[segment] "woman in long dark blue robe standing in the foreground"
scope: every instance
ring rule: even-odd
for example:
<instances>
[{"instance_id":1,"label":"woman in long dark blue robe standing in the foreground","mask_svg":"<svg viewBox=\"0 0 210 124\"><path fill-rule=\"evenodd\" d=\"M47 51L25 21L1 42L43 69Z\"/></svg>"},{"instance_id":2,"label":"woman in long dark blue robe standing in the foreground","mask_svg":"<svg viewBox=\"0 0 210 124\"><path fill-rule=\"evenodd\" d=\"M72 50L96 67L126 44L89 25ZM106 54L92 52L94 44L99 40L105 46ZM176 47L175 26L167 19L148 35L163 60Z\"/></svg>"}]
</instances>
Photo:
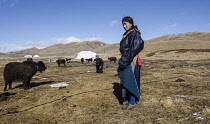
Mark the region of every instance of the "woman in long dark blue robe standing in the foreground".
<instances>
[{"instance_id":1,"label":"woman in long dark blue robe standing in the foreground","mask_svg":"<svg viewBox=\"0 0 210 124\"><path fill-rule=\"evenodd\" d=\"M137 26L134 26L131 17L124 17L122 25L126 32L120 42L121 58L118 63L118 76L123 85L123 104L126 105L122 109L132 109L136 107L136 102L140 100L141 61L138 54L144 48L144 41L141 38L141 32Z\"/></svg>"}]
</instances>

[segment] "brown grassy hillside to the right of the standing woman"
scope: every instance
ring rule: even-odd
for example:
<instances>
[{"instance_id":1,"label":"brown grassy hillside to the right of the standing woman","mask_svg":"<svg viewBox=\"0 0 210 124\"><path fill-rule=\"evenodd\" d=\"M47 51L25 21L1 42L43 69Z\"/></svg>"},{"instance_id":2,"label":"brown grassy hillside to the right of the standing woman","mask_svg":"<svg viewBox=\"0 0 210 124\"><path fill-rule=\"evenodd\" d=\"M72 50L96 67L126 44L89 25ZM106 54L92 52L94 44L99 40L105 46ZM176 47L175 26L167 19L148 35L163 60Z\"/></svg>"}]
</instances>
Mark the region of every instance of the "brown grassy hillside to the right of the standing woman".
<instances>
[{"instance_id":1,"label":"brown grassy hillside to the right of the standing woman","mask_svg":"<svg viewBox=\"0 0 210 124\"><path fill-rule=\"evenodd\" d=\"M145 43L145 49L141 54L148 59L189 60L197 58L196 56L208 59L210 54L209 46L209 32L190 32L179 35L166 35L149 40Z\"/></svg>"}]
</instances>

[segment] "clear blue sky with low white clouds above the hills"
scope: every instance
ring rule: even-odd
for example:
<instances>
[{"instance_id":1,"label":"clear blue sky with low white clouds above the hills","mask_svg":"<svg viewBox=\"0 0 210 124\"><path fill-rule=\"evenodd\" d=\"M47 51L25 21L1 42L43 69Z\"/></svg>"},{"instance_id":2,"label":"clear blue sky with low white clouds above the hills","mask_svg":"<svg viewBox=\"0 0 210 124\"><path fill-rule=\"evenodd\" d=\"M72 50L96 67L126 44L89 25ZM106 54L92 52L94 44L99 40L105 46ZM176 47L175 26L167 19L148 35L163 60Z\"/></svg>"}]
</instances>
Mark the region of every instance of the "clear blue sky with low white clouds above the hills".
<instances>
[{"instance_id":1,"label":"clear blue sky with low white clouds above the hills","mask_svg":"<svg viewBox=\"0 0 210 124\"><path fill-rule=\"evenodd\" d=\"M69 42L119 43L131 16L149 40L210 32L210 0L0 0L0 52Z\"/></svg>"}]
</instances>

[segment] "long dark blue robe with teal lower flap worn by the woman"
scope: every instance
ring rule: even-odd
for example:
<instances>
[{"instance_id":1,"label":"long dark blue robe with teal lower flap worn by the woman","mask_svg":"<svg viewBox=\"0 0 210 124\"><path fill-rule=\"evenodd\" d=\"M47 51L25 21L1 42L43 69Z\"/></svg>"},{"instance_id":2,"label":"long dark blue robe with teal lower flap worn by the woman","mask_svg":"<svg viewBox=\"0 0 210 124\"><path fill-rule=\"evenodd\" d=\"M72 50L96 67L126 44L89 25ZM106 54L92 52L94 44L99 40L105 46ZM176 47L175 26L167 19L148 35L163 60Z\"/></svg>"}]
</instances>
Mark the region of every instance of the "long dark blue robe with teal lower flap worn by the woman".
<instances>
[{"instance_id":1,"label":"long dark blue robe with teal lower flap worn by the woman","mask_svg":"<svg viewBox=\"0 0 210 124\"><path fill-rule=\"evenodd\" d=\"M121 58L119 60L118 76L123 87L130 91L139 101L140 100L140 67L134 65L132 69L131 62L134 57L144 48L144 41L141 38L141 32L137 27L132 27L126 31L120 42Z\"/></svg>"}]
</instances>

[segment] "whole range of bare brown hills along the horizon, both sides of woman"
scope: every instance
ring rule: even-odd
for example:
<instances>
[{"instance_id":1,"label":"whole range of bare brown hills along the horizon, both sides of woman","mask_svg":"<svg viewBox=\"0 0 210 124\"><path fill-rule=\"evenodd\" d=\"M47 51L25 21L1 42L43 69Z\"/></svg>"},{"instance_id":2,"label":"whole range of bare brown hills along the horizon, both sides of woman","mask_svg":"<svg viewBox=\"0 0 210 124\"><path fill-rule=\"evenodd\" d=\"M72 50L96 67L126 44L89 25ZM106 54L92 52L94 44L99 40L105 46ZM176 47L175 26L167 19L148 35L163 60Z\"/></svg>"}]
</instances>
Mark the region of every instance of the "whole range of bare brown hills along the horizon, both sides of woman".
<instances>
[{"instance_id":1,"label":"whole range of bare brown hills along the horizon, both sides of woman","mask_svg":"<svg viewBox=\"0 0 210 124\"><path fill-rule=\"evenodd\" d=\"M208 42L208 43L207 43ZM145 41L145 52L152 52L161 49L209 49L210 32L189 32L184 34L170 34ZM207 43L207 44L206 44ZM35 55L40 56L75 56L80 51L93 51L97 54L119 54L119 43L107 44L101 41L71 42L57 44L44 49L30 48L10 55ZM3 55L4 53L0 53Z\"/></svg>"}]
</instances>

